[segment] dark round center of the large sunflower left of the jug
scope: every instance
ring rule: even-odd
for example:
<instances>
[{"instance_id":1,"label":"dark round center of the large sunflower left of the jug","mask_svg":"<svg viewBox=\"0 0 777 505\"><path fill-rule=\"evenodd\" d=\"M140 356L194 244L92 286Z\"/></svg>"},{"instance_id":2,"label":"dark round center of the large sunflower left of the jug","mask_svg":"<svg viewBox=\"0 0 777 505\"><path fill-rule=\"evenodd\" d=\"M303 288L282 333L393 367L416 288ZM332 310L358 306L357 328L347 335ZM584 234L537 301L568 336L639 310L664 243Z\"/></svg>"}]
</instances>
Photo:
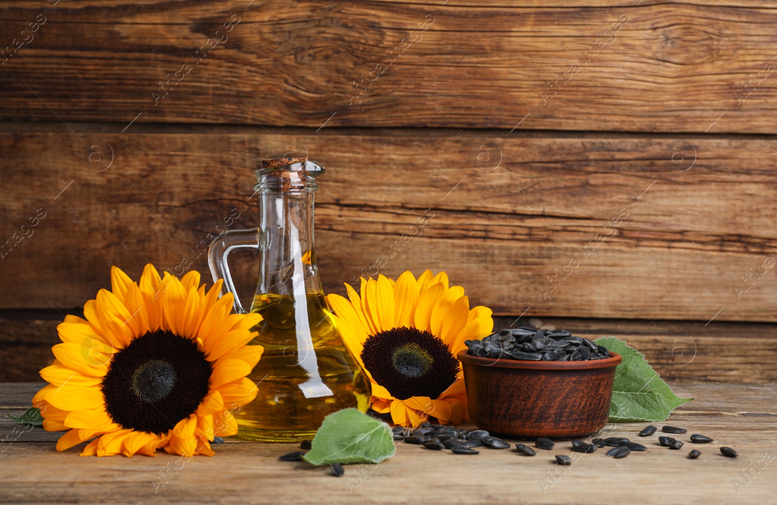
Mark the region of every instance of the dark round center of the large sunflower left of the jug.
<instances>
[{"instance_id":1,"label":"dark round center of the large sunflower left of the jug","mask_svg":"<svg viewBox=\"0 0 777 505\"><path fill-rule=\"evenodd\" d=\"M106 411L124 428L166 433L197 410L211 371L193 340L146 333L113 355L103 378Z\"/></svg>"}]
</instances>

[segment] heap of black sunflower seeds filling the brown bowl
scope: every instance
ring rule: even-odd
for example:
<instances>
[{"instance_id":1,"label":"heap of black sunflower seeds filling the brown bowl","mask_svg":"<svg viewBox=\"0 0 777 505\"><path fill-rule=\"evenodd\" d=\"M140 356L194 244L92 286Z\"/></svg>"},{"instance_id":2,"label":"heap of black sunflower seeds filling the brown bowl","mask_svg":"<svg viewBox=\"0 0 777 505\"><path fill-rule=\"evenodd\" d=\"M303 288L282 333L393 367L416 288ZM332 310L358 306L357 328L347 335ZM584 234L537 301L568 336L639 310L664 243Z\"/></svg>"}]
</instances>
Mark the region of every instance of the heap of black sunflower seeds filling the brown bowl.
<instances>
[{"instance_id":1,"label":"heap of black sunflower seeds filling the brown bowl","mask_svg":"<svg viewBox=\"0 0 777 505\"><path fill-rule=\"evenodd\" d=\"M610 357L598 346L565 329L536 329L529 326L501 329L483 340L465 340L467 354L479 357L527 361L586 361Z\"/></svg>"}]
</instances>

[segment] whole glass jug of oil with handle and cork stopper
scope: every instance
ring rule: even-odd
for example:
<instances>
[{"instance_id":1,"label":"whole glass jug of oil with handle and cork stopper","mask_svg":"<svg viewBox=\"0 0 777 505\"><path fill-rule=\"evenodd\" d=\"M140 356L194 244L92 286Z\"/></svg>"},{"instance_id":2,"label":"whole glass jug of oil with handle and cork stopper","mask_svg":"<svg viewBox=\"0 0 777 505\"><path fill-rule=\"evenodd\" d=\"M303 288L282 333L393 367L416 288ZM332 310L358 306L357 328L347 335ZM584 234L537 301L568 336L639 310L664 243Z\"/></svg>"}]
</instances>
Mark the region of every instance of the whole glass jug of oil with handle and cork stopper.
<instances>
[{"instance_id":1,"label":"whole glass jug of oil with handle and cork stopper","mask_svg":"<svg viewBox=\"0 0 777 505\"><path fill-rule=\"evenodd\" d=\"M369 379L347 350L329 317L313 249L315 178L324 172L307 158L262 162L255 186L260 226L230 230L208 250L214 281L224 279L235 296L235 312L245 313L235 293L228 254L236 248L260 249L259 280L249 308L263 316L251 343L264 347L249 378L256 399L235 419L237 437L252 441L312 439L329 413L349 407L364 412ZM228 408L229 406L227 406Z\"/></svg>"}]
</instances>

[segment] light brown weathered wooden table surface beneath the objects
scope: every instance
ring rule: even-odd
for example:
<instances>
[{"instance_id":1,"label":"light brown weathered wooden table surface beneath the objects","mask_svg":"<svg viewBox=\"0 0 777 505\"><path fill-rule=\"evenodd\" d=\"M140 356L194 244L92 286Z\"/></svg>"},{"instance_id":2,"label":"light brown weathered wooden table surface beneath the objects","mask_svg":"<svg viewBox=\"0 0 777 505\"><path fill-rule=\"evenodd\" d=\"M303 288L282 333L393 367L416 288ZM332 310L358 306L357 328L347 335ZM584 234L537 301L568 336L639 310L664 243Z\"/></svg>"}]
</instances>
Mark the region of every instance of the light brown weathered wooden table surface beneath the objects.
<instances>
[{"instance_id":1,"label":"light brown weathered wooden table surface beneath the objects","mask_svg":"<svg viewBox=\"0 0 777 505\"><path fill-rule=\"evenodd\" d=\"M277 461L278 455L296 448L290 444L228 440L214 446L213 458L190 461L164 452L156 458L80 458L78 448L57 453L58 434L36 427L17 437L5 416L22 413L40 385L0 385L0 503L731 505L775 503L777 495L777 391L769 384L671 384L678 395L695 400L655 424L686 427L688 435L715 439L691 444L688 435L678 436L686 441L680 451L660 447L658 434L639 438L647 451L617 460L604 450L573 453L568 442L557 443L552 451L538 449L533 458L512 449L457 456L398 443L394 458L380 465L347 465L340 478L327 468ZM645 425L614 424L603 432L637 439ZM719 451L723 445L735 448L739 457L724 458ZM692 449L702 451L699 459L686 457ZM573 465L556 465L557 454L570 455Z\"/></svg>"}]
</instances>

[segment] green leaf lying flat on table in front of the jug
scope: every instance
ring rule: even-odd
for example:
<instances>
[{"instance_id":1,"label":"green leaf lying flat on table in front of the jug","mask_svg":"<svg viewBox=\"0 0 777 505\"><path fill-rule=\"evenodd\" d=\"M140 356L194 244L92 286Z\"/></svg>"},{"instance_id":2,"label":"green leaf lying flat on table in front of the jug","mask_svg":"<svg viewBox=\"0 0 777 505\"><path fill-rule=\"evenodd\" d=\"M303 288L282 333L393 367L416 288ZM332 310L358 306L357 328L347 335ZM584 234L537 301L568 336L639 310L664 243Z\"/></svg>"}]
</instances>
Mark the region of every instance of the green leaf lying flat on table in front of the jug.
<instances>
[{"instance_id":1,"label":"green leaf lying flat on table in front of the jug","mask_svg":"<svg viewBox=\"0 0 777 505\"><path fill-rule=\"evenodd\" d=\"M344 409L324 418L305 461L313 465L380 463L395 452L388 424L357 409Z\"/></svg>"}]
</instances>

